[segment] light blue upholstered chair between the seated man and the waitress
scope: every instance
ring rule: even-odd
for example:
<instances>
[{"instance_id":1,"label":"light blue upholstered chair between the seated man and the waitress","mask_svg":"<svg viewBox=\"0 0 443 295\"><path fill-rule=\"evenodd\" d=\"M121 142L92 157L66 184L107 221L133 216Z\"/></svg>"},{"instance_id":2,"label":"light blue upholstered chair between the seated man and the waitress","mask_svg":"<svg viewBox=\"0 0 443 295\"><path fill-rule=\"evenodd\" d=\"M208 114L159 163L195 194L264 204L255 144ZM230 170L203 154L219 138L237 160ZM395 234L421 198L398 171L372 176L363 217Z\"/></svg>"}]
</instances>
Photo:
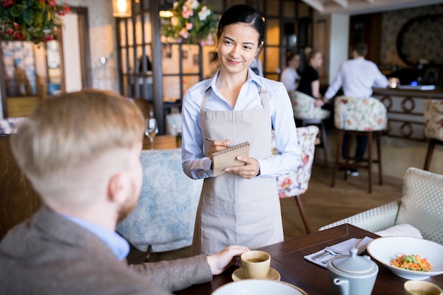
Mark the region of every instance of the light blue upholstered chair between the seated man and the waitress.
<instances>
[{"instance_id":1,"label":"light blue upholstered chair between the seated man and the waitress","mask_svg":"<svg viewBox=\"0 0 443 295\"><path fill-rule=\"evenodd\" d=\"M135 248L164 252L192 244L203 180L183 173L181 149L142 151L143 184L134 211L117 232Z\"/></svg>"}]
</instances>

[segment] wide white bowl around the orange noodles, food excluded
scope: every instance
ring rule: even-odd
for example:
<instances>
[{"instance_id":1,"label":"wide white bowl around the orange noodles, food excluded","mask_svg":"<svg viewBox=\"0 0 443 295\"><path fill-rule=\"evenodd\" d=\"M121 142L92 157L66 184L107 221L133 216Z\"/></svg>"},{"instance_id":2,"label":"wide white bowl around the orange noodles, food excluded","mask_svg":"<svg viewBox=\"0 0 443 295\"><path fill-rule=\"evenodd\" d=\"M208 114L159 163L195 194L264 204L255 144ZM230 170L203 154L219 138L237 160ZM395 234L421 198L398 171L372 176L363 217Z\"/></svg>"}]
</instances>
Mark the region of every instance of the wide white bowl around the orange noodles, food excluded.
<instances>
[{"instance_id":1,"label":"wide white bowl around the orange noodles, food excluded","mask_svg":"<svg viewBox=\"0 0 443 295\"><path fill-rule=\"evenodd\" d=\"M404 279L427 279L435 275L443 274L443 245L404 236L386 236L376 238L367 245L367 252L375 260L388 267L398 277ZM390 265L391 260L397 254L420 255L432 264L432 272L417 272L415 270L403 270Z\"/></svg>"}]
</instances>

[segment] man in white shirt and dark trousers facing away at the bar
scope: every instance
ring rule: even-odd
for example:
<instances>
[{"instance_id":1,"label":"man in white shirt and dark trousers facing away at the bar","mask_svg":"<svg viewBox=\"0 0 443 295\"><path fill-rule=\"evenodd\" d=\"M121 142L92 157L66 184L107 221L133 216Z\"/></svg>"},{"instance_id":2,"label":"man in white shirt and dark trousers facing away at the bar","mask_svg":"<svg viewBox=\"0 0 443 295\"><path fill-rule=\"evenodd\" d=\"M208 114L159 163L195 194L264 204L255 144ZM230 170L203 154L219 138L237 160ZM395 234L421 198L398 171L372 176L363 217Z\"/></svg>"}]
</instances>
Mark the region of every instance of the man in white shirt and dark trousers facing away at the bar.
<instances>
[{"instance_id":1,"label":"man in white shirt and dark trousers facing away at the bar","mask_svg":"<svg viewBox=\"0 0 443 295\"><path fill-rule=\"evenodd\" d=\"M335 96L340 88L343 88L345 96L357 98L369 98L372 96L372 87L386 88L388 80L384 74L381 74L379 68L364 57L367 54L367 46L364 43L357 43L352 47L352 59L341 64L333 83L330 84L328 90L323 96L323 101L317 105L322 105L326 101ZM343 138L342 157L347 154L347 141L349 137L345 135ZM367 137L357 136L357 149L355 150L355 158L363 158L366 151ZM348 174L357 176L357 169L347 171Z\"/></svg>"}]
</instances>

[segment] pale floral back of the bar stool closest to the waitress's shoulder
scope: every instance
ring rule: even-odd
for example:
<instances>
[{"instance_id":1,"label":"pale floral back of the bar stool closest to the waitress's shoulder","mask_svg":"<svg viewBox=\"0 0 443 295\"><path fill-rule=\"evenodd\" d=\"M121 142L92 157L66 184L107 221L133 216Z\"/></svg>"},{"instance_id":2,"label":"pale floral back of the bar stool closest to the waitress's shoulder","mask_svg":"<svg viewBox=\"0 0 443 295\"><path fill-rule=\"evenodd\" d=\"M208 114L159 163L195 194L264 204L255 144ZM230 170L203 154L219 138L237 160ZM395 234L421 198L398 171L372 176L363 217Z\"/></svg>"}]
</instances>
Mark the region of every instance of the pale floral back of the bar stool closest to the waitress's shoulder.
<instances>
[{"instance_id":1,"label":"pale floral back of the bar stool closest to the waitress's shoulder","mask_svg":"<svg viewBox=\"0 0 443 295\"><path fill-rule=\"evenodd\" d=\"M330 116L328 110L316 108L313 104L316 99L300 91L288 91L294 109L294 117L297 119L320 119L324 120Z\"/></svg>"}]
</instances>

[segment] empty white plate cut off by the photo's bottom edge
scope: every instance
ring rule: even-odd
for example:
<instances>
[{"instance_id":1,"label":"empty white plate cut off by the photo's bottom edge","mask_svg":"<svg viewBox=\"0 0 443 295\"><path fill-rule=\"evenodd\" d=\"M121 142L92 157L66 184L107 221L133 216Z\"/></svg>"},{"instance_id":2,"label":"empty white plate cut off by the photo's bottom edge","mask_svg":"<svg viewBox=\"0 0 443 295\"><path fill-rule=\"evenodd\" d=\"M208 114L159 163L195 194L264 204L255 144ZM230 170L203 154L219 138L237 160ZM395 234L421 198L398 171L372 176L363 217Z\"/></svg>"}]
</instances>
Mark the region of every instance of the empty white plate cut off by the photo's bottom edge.
<instances>
[{"instance_id":1,"label":"empty white plate cut off by the photo's bottom edge","mask_svg":"<svg viewBox=\"0 0 443 295\"><path fill-rule=\"evenodd\" d=\"M292 284L268 281L265 279L243 279L219 287L212 295L306 295L306 293Z\"/></svg>"}]
</instances>

